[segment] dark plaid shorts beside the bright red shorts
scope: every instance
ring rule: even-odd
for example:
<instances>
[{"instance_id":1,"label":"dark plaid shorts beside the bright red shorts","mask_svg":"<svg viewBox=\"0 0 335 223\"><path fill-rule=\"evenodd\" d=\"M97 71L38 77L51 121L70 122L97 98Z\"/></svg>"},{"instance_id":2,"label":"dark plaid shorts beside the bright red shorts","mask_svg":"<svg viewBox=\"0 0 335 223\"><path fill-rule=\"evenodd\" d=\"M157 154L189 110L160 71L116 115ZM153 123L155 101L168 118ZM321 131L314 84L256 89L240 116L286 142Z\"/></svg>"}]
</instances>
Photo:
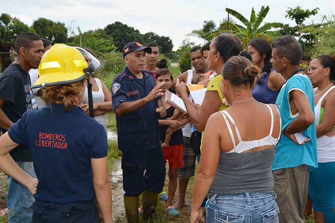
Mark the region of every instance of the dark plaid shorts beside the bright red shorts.
<instances>
[{"instance_id":1,"label":"dark plaid shorts beside the bright red shorts","mask_svg":"<svg viewBox=\"0 0 335 223\"><path fill-rule=\"evenodd\" d=\"M196 169L196 158L197 155L193 152L191 148L190 140L191 138L183 136L184 139L184 151L183 151L183 167L178 169L178 179L186 180L194 176Z\"/></svg>"}]
</instances>

